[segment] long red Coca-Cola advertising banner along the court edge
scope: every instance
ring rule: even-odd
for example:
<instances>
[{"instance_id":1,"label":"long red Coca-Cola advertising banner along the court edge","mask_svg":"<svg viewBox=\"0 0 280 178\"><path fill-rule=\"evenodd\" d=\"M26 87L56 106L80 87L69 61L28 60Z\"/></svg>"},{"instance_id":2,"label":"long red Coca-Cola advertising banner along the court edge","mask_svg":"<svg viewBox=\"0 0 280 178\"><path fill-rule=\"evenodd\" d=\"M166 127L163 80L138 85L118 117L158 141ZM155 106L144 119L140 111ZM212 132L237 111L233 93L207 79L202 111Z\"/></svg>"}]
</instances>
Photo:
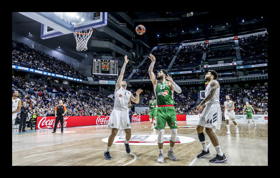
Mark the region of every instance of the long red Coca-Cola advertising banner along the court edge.
<instances>
[{"instance_id":1,"label":"long red Coca-Cola advertising banner along the court edge","mask_svg":"<svg viewBox=\"0 0 280 178\"><path fill-rule=\"evenodd\" d=\"M177 121L185 121L186 115L176 115ZM64 116L63 127L92 126L107 124L110 116ZM149 121L149 115L133 115L132 122ZM36 129L54 128L55 116L37 117ZM58 122L57 128L61 124Z\"/></svg>"}]
</instances>

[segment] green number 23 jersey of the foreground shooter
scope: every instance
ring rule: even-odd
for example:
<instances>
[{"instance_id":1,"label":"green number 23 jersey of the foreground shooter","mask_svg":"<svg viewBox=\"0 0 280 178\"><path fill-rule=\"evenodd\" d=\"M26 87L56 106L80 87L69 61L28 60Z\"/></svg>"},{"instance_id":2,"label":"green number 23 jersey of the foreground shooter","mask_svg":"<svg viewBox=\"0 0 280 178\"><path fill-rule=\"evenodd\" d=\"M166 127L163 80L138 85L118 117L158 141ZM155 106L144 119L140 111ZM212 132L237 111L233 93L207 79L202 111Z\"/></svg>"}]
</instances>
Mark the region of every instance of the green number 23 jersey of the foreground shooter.
<instances>
[{"instance_id":1,"label":"green number 23 jersey of the foreground shooter","mask_svg":"<svg viewBox=\"0 0 280 178\"><path fill-rule=\"evenodd\" d=\"M171 88L169 81L164 83L157 82L155 95L157 105L171 105L174 104L175 101L173 99L174 90Z\"/></svg>"}]
</instances>

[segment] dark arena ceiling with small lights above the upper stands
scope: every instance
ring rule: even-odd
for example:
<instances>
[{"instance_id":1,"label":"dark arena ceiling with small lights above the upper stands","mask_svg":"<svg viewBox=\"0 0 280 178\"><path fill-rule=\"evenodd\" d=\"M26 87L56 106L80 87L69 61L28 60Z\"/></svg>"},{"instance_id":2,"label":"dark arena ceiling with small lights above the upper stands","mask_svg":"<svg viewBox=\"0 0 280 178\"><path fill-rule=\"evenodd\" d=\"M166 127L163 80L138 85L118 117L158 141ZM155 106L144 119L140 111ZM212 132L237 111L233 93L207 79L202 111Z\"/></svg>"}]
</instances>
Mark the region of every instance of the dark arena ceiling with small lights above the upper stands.
<instances>
[{"instance_id":1,"label":"dark arena ceiling with small lights above the upper stands","mask_svg":"<svg viewBox=\"0 0 280 178\"><path fill-rule=\"evenodd\" d=\"M109 13L119 19L120 22L124 21L117 13ZM135 33L134 39L141 39L149 46L154 46L159 43L180 43L184 40L207 39L226 34L235 35L245 31L268 28L268 13L265 11L244 11L236 13L234 11L193 12L192 15L190 15L191 12L125 13L131 18L131 22L134 23L134 26L131 23L126 23L127 27ZM139 24L146 27L144 35L138 35L135 32L135 28ZM23 16L18 12L12 12L12 32L30 38L51 49L54 49L54 46L57 45L75 49L76 40L73 34L43 40L40 39L40 30L41 24L39 22ZM96 38L101 35L103 35L102 38L107 38L104 36L104 33L95 33ZM112 37L108 35L108 39L110 38ZM99 52L106 53L106 50L102 51L104 50L102 48L90 48L89 50L98 50Z\"/></svg>"}]
</instances>

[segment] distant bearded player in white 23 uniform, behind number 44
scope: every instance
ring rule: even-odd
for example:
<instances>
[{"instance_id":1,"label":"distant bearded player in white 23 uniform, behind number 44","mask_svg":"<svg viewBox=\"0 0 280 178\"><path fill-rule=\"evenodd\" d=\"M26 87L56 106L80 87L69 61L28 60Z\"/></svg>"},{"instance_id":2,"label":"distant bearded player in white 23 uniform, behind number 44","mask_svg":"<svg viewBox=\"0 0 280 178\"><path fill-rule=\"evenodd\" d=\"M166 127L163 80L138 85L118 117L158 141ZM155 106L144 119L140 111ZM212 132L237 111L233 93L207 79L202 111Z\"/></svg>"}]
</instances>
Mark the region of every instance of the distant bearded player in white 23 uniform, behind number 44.
<instances>
[{"instance_id":1,"label":"distant bearded player in white 23 uniform, behind number 44","mask_svg":"<svg viewBox=\"0 0 280 178\"><path fill-rule=\"evenodd\" d=\"M224 102L224 117L226 119L226 134L231 134L229 121L231 120L235 126L236 133L239 133L239 129L237 127L237 123L235 121L235 112L234 112L234 103L230 100L231 96L229 94L226 95L226 101Z\"/></svg>"}]
</instances>

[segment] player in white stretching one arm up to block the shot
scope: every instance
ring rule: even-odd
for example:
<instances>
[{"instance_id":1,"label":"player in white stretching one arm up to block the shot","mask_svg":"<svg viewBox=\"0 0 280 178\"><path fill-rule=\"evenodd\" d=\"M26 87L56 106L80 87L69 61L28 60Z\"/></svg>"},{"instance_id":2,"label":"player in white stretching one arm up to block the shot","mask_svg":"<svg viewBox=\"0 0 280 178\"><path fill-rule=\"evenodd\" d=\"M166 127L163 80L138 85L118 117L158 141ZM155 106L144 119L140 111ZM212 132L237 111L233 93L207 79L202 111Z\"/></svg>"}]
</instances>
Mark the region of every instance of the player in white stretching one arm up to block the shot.
<instances>
[{"instance_id":1,"label":"player in white stretching one arm up to block the shot","mask_svg":"<svg viewBox=\"0 0 280 178\"><path fill-rule=\"evenodd\" d=\"M128 63L127 56L124 57L124 65L122 67L122 70L119 74L119 78L116 83L116 89L115 89L115 98L114 98L114 108L113 111L111 112L108 124L107 124L107 129L111 129L111 135L109 136L108 139L108 144L107 144L107 149L104 153L104 158L111 160L112 157L110 156L110 148L113 144L114 138L118 132L118 130L124 130L125 131L125 150L127 153L130 153L130 147L128 144L128 141L131 137L131 125L130 125L130 119L129 119L129 114L128 114L128 103L129 100L133 101L134 103L139 103L140 97L139 94L143 91L142 89L138 89L136 91L136 98L126 90L127 83L126 81L122 81L124 78L124 71L125 71L125 66Z\"/></svg>"}]
</instances>

